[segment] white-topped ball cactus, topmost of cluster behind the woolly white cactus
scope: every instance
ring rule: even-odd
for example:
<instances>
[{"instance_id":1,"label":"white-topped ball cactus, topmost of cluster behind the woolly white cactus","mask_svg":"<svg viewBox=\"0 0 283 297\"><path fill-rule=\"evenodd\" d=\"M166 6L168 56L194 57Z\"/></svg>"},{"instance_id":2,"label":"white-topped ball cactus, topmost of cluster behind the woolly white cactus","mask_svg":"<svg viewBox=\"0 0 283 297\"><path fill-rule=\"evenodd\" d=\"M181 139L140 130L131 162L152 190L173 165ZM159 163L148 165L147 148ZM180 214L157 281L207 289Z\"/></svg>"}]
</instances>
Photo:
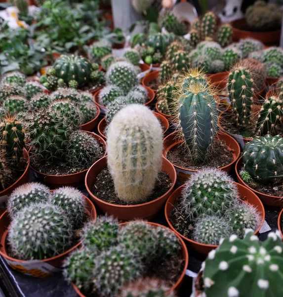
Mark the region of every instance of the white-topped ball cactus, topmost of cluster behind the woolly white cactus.
<instances>
[{"instance_id":1,"label":"white-topped ball cactus, topmost of cluster behind the woolly white cactus","mask_svg":"<svg viewBox=\"0 0 283 297\"><path fill-rule=\"evenodd\" d=\"M107 70L106 81L108 85L119 87L126 95L138 83L137 72L129 62L116 62Z\"/></svg>"}]
</instances>

